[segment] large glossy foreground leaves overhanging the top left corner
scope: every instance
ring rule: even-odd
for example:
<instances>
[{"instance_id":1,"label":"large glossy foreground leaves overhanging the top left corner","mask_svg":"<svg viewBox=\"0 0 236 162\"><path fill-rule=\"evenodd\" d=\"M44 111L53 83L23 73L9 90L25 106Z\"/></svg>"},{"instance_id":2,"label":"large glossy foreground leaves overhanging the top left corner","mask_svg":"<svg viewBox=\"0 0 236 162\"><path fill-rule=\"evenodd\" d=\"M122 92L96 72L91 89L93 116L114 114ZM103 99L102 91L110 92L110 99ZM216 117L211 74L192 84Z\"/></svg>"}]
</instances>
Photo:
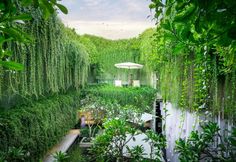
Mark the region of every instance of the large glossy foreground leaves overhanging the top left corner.
<instances>
[{"instance_id":1,"label":"large glossy foreground leaves overhanging the top left corner","mask_svg":"<svg viewBox=\"0 0 236 162\"><path fill-rule=\"evenodd\" d=\"M58 0L5 0L1 2L0 7L0 66L13 70L22 70L22 64L9 60L12 55L12 50L7 48L7 42L16 41L20 43L27 43L31 40L30 36L21 28L19 24L24 24L33 17L27 13L21 13L22 7L29 6L37 8L42 11L44 18L49 18L50 15L59 9L67 14L68 11L65 6L58 3Z\"/></svg>"}]
</instances>

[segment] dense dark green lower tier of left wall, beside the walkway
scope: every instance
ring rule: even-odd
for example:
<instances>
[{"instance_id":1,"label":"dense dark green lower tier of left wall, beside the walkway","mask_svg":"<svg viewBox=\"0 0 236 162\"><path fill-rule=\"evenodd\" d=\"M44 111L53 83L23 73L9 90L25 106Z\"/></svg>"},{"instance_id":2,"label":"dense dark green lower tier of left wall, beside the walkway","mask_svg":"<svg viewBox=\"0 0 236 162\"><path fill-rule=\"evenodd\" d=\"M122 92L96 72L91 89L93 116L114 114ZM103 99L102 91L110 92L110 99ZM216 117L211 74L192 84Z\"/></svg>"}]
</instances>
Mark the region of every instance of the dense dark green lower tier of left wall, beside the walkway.
<instances>
[{"instance_id":1,"label":"dense dark green lower tier of left wall, beside the walkway","mask_svg":"<svg viewBox=\"0 0 236 162\"><path fill-rule=\"evenodd\" d=\"M5 110L0 114L0 152L22 147L36 161L76 123L77 92Z\"/></svg>"}]
</instances>

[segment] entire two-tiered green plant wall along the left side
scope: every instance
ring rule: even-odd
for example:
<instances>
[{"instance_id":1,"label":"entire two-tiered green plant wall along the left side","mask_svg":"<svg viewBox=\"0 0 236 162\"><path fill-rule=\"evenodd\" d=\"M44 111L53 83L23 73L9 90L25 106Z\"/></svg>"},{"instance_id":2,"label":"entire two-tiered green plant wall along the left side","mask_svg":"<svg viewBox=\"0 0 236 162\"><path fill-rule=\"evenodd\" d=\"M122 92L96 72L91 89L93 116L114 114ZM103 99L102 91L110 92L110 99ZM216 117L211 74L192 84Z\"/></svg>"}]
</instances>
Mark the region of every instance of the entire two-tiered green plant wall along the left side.
<instances>
[{"instance_id":1,"label":"entire two-tiered green plant wall along the left side","mask_svg":"<svg viewBox=\"0 0 236 162\"><path fill-rule=\"evenodd\" d=\"M55 14L45 17L37 7L9 4L31 20L9 23L14 28L4 33L24 39L18 35L24 31L29 41L4 43L12 55L1 57L1 63L24 68L0 66L0 161L39 161L76 123L89 57L79 36Z\"/></svg>"}]
</instances>

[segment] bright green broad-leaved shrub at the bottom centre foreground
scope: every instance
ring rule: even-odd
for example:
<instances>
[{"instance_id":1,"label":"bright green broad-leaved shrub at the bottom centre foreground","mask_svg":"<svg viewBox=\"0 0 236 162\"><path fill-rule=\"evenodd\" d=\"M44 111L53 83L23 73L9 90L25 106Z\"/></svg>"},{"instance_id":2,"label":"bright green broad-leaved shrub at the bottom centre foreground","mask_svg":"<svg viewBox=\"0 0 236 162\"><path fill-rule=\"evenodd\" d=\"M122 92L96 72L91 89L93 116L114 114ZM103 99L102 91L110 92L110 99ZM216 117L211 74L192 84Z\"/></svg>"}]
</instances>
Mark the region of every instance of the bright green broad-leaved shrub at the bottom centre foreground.
<instances>
[{"instance_id":1,"label":"bright green broad-leaved shrub at the bottom centre foreground","mask_svg":"<svg viewBox=\"0 0 236 162\"><path fill-rule=\"evenodd\" d=\"M124 119L111 119L103 126L104 132L96 136L92 148L97 161L124 161L123 149L136 134L136 129ZM130 134L128 139L127 134Z\"/></svg>"}]
</instances>

